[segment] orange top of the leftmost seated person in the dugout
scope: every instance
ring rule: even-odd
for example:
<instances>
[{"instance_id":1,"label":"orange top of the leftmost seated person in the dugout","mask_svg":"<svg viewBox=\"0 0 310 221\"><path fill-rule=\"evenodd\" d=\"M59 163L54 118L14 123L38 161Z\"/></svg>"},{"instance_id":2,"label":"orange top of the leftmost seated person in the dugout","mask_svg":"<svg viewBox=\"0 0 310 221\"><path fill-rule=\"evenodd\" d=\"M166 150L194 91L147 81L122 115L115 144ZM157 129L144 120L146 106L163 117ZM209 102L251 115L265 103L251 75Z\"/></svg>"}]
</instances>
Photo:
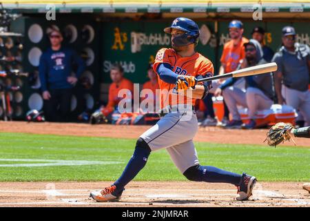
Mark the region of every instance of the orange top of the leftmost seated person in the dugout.
<instances>
[{"instance_id":1,"label":"orange top of the leftmost seated person in the dugout","mask_svg":"<svg viewBox=\"0 0 310 221\"><path fill-rule=\"evenodd\" d=\"M132 81L126 79L125 77L123 77L118 84L110 84L109 100L107 102L107 106L105 106L102 110L103 115L107 116L112 113L112 111L114 111L114 107L121 101L121 99L123 99L123 97L118 97L118 92L122 89L129 89L132 96L134 95L134 84L132 84Z\"/></svg>"}]
</instances>

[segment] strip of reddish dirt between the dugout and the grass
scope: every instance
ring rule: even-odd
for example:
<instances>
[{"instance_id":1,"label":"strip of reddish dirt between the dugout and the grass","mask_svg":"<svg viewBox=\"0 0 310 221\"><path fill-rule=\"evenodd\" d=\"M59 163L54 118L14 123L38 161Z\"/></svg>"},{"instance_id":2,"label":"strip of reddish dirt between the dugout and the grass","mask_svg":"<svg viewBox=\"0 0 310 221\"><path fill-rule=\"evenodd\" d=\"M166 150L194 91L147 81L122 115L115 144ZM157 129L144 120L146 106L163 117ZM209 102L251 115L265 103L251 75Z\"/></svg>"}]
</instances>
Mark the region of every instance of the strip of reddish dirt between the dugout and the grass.
<instances>
[{"instance_id":1,"label":"strip of reddish dirt between the dugout and the grass","mask_svg":"<svg viewBox=\"0 0 310 221\"><path fill-rule=\"evenodd\" d=\"M20 132L52 135L76 135L92 137L122 137L137 138L150 126L121 126L121 125L90 125L90 124L57 124L57 123L27 123L0 122L0 132ZM223 129L218 127L199 128L195 141L218 144L260 144L267 145L265 140L267 129L252 131ZM310 146L306 138L295 139L298 146ZM282 145L282 144L281 144ZM293 142L285 143L293 146Z\"/></svg>"}]
</instances>

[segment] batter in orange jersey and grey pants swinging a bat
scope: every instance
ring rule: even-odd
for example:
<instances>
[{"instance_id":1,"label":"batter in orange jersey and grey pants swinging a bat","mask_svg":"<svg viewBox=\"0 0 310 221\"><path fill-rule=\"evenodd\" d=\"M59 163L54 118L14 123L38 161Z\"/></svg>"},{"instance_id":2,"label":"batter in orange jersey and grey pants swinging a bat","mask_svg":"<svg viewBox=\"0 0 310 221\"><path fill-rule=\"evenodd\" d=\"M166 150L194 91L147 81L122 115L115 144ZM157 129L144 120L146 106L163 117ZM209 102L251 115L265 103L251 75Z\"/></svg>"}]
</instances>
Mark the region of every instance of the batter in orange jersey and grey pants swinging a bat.
<instances>
[{"instance_id":1,"label":"batter in orange jersey and grey pants swinging a bat","mask_svg":"<svg viewBox=\"0 0 310 221\"><path fill-rule=\"evenodd\" d=\"M180 173L188 180L234 184L238 189L236 200L247 200L256 184L256 177L200 165L193 142L198 130L194 108L178 109L180 104L186 102L186 93L183 93L185 99L172 99L172 88L183 92L189 89L192 92L189 99L194 106L195 100L203 99L209 91L210 83L197 83L197 79L214 74L211 61L195 51L200 33L198 25L191 19L179 17L164 31L171 34L172 48L162 48L157 52L153 68L158 74L161 91L170 91L161 93L161 108L166 112L156 125L138 138L134 154L121 177L102 191L91 192L90 197L98 202L121 199L125 186L143 169L149 154L165 148Z\"/></svg>"}]
</instances>

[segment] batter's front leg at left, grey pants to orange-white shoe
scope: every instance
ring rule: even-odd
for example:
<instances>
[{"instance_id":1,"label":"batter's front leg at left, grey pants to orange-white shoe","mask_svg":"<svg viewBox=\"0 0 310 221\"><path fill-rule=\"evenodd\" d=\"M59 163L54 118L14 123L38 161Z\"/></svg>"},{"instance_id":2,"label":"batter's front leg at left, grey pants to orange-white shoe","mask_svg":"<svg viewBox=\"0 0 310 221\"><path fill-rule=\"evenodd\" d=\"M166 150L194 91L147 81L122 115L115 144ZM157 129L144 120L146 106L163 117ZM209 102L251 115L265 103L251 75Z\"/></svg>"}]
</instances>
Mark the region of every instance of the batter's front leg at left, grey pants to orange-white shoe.
<instances>
[{"instance_id":1,"label":"batter's front leg at left, grey pants to orange-white shoe","mask_svg":"<svg viewBox=\"0 0 310 221\"><path fill-rule=\"evenodd\" d=\"M188 131L180 134L184 128L187 128ZM126 184L143 169L151 151L192 140L197 129L198 122L194 113L169 113L165 115L138 139L134 154L127 163L121 177L112 186L103 189L100 193L90 193L90 197L100 202L118 200Z\"/></svg>"}]
</instances>

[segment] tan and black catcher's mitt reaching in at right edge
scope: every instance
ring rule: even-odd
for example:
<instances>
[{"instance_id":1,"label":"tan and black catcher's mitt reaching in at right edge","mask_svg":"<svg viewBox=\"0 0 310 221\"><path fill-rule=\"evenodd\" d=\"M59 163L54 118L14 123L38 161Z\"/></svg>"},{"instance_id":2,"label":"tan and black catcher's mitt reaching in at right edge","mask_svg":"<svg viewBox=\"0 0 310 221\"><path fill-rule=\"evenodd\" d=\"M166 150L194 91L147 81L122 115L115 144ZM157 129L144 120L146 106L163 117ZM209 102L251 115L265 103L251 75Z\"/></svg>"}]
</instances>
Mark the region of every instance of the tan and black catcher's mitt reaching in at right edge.
<instances>
[{"instance_id":1,"label":"tan and black catcher's mitt reaching in at right edge","mask_svg":"<svg viewBox=\"0 0 310 221\"><path fill-rule=\"evenodd\" d=\"M293 129L293 125L289 123L278 123L272 126L267 132L266 140L268 145L276 147L281 142L284 143L290 139L295 144L293 138L291 137L291 129ZM266 142L266 140L264 142Z\"/></svg>"}]
</instances>

